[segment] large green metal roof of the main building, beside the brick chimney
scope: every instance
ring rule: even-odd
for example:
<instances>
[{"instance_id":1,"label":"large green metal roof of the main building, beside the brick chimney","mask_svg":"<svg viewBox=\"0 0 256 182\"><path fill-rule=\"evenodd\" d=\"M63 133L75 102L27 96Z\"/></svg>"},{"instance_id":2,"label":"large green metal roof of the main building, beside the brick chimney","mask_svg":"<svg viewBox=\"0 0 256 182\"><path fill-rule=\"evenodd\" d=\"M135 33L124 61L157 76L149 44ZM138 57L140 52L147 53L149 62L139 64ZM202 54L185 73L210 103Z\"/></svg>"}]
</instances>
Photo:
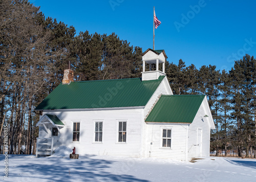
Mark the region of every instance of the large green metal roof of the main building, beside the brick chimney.
<instances>
[{"instance_id":1,"label":"large green metal roof of the main building, beside the brick chimney","mask_svg":"<svg viewBox=\"0 0 256 182\"><path fill-rule=\"evenodd\" d=\"M35 110L87 109L145 106L164 76L59 84Z\"/></svg>"}]
</instances>

